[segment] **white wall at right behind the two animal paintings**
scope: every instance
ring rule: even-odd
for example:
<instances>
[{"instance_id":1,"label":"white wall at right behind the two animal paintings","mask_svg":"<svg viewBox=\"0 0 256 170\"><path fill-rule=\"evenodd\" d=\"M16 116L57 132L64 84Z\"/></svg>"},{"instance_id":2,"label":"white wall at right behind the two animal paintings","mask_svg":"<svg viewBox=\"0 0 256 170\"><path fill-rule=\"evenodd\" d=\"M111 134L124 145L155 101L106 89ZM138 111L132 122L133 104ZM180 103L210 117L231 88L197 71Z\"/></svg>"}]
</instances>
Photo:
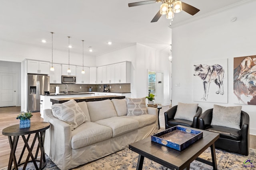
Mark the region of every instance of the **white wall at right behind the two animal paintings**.
<instances>
[{"instance_id":1,"label":"white wall at right behind the two animal paintings","mask_svg":"<svg viewBox=\"0 0 256 170\"><path fill-rule=\"evenodd\" d=\"M233 94L233 59L256 55L256 1L212 14L172 29L172 105L198 103L203 111L214 104L237 106ZM231 22L235 16L237 20ZM228 103L193 101L195 62L228 59ZM180 86L174 86L180 83ZM256 135L256 106L242 105L250 115L250 133Z\"/></svg>"}]
</instances>

